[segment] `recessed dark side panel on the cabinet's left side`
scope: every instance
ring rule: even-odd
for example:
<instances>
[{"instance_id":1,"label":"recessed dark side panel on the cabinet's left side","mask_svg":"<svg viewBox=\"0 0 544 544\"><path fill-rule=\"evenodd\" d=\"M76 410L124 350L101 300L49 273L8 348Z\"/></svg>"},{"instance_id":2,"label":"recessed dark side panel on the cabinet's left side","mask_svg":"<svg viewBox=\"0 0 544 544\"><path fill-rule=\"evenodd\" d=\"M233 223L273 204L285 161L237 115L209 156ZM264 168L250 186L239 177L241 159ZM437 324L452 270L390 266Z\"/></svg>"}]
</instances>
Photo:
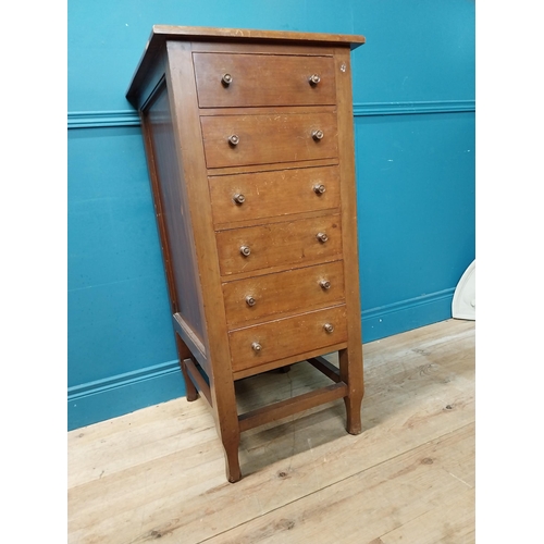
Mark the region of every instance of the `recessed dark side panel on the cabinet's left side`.
<instances>
[{"instance_id":1,"label":"recessed dark side panel on the cabinet's left side","mask_svg":"<svg viewBox=\"0 0 544 544\"><path fill-rule=\"evenodd\" d=\"M164 265L166 275L171 276L174 284L173 288L171 286L171 296L173 290L175 297L172 301L172 310L181 313L187 325L202 342L205 331L190 222L187 202L184 198L184 180L180 180L166 86L163 86L145 118L158 182L153 187L156 210L159 221L162 220L165 227L162 236Z\"/></svg>"}]
</instances>

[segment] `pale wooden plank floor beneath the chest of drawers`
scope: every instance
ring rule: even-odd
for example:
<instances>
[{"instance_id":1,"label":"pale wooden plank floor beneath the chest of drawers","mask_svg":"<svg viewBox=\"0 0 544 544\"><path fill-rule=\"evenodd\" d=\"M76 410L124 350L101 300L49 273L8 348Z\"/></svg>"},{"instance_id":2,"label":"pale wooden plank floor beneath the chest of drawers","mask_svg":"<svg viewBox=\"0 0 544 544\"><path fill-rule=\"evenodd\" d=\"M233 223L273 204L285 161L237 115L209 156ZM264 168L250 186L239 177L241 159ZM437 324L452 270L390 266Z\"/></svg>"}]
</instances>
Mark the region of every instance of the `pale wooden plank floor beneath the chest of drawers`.
<instances>
[{"instance_id":1,"label":"pale wooden plank floor beneath the chest of drawers","mask_svg":"<svg viewBox=\"0 0 544 544\"><path fill-rule=\"evenodd\" d=\"M334 357L331 357L334 362ZM364 345L363 432L341 400L247 431L225 480L203 400L69 433L69 542L474 542L474 322ZM240 411L326 378L302 362L237 383Z\"/></svg>"}]
</instances>

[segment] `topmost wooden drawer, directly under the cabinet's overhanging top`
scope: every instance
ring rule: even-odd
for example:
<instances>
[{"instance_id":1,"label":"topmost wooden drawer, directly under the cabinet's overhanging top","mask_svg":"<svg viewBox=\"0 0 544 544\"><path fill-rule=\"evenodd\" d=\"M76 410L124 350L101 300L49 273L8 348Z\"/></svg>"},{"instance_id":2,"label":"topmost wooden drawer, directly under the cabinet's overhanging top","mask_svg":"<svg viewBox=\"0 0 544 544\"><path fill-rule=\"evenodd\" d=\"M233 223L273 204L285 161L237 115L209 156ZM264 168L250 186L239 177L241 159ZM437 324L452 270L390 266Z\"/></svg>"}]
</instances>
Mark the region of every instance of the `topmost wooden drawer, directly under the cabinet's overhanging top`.
<instances>
[{"instance_id":1,"label":"topmost wooden drawer, directly under the cabinet's overhanging top","mask_svg":"<svg viewBox=\"0 0 544 544\"><path fill-rule=\"evenodd\" d=\"M193 62L200 108L336 103L332 57L193 53Z\"/></svg>"}]
</instances>

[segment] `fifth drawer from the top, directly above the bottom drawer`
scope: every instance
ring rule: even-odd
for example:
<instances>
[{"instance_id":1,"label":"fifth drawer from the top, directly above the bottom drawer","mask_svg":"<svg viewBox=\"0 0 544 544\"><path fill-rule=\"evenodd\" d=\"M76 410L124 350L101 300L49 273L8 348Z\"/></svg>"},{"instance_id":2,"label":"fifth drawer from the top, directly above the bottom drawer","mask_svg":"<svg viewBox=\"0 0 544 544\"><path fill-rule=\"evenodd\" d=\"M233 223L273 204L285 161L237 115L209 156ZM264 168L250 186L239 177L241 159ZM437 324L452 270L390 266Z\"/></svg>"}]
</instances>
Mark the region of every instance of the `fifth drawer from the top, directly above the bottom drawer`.
<instances>
[{"instance_id":1,"label":"fifth drawer from the top, directly above the bottom drawer","mask_svg":"<svg viewBox=\"0 0 544 544\"><path fill-rule=\"evenodd\" d=\"M343 304L342 261L288 270L223 284L230 329L274 314Z\"/></svg>"}]
</instances>

